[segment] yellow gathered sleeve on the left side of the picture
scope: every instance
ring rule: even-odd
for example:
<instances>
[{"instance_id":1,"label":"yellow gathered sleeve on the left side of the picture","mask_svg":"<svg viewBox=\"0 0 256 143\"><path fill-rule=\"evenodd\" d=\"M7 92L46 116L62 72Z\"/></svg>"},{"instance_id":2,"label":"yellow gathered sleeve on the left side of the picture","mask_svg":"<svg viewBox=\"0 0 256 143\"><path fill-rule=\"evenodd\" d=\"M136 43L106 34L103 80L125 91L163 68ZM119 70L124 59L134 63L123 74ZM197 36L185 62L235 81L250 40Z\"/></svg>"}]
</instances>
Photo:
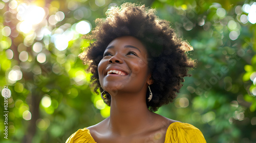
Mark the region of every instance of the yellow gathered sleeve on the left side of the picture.
<instances>
[{"instance_id":1,"label":"yellow gathered sleeve on the left side of the picture","mask_svg":"<svg viewBox=\"0 0 256 143\"><path fill-rule=\"evenodd\" d=\"M66 143L96 143L90 134L90 131L86 128L79 129L73 133L66 141Z\"/></svg>"}]
</instances>

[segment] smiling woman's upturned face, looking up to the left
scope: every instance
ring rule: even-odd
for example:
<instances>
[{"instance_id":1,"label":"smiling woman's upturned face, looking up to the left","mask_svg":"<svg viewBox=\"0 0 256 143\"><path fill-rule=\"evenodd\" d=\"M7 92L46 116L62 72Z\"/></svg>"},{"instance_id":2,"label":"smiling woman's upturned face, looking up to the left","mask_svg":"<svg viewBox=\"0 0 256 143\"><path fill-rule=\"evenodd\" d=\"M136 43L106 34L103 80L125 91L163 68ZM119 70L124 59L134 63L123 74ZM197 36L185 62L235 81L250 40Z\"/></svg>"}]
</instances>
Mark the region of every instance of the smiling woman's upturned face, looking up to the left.
<instances>
[{"instance_id":1,"label":"smiling woman's upturned face, looking up to the left","mask_svg":"<svg viewBox=\"0 0 256 143\"><path fill-rule=\"evenodd\" d=\"M151 75L144 45L132 36L114 39L104 51L98 73L101 87L112 96L145 91Z\"/></svg>"}]
</instances>

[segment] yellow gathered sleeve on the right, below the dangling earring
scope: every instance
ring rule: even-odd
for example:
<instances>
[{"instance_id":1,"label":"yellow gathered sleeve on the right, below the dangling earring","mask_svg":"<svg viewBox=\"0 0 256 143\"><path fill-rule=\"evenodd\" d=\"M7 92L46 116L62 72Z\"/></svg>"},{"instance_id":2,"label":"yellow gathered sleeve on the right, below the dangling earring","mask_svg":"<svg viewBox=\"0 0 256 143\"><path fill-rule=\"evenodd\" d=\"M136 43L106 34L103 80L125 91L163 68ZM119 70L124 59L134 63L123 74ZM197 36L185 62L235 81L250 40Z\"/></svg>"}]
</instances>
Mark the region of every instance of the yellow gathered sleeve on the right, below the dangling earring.
<instances>
[{"instance_id":1,"label":"yellow gathered sleeve on the right, below the dangling earring","mask_svg":"<svg viewBox=\"0 0 256 143\"><path fill-rule=\"evenodd\" d=\"M198 128L187 123L175 122L168 127L164 142L205 143L206 141Z\"/></svg>"}]
</instances>

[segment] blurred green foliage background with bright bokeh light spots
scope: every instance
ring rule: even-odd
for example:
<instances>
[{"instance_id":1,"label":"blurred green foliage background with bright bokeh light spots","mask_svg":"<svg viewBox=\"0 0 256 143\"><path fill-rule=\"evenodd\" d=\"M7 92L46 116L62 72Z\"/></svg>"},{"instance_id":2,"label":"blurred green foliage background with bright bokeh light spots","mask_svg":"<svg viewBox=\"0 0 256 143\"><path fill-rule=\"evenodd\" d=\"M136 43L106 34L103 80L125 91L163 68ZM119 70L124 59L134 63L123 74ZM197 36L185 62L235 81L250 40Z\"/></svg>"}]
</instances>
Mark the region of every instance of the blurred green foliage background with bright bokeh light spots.
<instances>
[{"instance_id":1,"label":"blurred green foliage background with bright bokeh light spots","mask_svg":"<svg viewBox=\"0 0 256 143\"><path fill-rule=\"evenodd\" d=\"M137 2L137 1L125 1ZM81 39L123 0L0 2L0 89L8 86L8 139L0 98L0 142L65 142L109 116L77 57ZM171 21L197 67L157 113L193 124L210 142L256 141L256 2L140 1ZM3 114L3 115L2 115Z\"/></svg>"}]
</instances>

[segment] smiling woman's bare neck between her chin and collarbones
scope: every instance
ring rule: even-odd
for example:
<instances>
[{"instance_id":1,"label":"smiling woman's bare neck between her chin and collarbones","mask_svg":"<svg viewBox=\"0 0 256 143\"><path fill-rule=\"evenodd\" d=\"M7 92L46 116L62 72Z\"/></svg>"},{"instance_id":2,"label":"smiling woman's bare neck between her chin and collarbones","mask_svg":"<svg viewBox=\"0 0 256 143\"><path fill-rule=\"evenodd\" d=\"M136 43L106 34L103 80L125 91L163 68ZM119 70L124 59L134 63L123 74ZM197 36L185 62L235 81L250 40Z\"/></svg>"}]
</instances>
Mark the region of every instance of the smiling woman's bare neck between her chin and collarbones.
<instances>
[{"instance_id":1,"label":"smiling woman's bare neck between her chin and collarbones","mask_svg":"<svg viewBox=\"0 0 256 143\"><path fill-rule=\"evenodd\" d=\"M154 113L147 109L142 100L145 101L145 98L139 95L112 97L109 126L113 133L131 135L151 126Z\"/></svg>"}]
</instances>

